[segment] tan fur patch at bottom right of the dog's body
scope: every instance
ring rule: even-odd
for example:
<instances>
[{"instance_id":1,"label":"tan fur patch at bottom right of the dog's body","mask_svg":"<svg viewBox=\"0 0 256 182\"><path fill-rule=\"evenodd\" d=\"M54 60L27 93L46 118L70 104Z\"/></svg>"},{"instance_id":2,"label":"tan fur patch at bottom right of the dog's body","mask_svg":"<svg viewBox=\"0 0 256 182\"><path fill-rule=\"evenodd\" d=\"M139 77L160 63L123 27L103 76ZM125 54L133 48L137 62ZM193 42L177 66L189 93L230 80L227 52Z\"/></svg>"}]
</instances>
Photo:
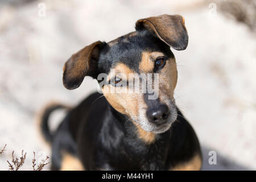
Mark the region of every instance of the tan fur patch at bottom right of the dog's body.
<instances>
[{"instance_id":1,"label":"tan fur patch at bottom right of the dog's body","mask_svg":"<svg viewBox=\"0 0 256 182\"><path fill-rule=\"evenodd\" d=\"M199 171L201 169L201 166L202 166L202 160L200 156L197 154L187 163L178 164L171 170L172 171Z\"/></svg>"}]
</instances>

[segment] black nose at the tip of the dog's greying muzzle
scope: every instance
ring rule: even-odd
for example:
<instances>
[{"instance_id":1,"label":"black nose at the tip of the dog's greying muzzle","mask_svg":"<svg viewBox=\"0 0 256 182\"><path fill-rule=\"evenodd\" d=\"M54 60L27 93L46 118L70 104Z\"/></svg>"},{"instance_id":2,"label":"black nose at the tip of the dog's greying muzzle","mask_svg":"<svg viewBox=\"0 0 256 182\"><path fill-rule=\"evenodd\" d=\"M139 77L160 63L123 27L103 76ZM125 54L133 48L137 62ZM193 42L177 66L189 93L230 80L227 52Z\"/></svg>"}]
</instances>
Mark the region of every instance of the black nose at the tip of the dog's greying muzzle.
<instances>
[{"instance_id":1,"label":"black nose at the tip of the dog's greying muzzle","mask_svg":"<svg viewBox=\"0 0 256 182\"><path fill-rule=\"evenodd\" d=\"M148 109L146 114L150 122L160 124L166 122L166 119L169 117L169 109L167 105L162 104L154 109Z\"/></svg>"}]
</instances>

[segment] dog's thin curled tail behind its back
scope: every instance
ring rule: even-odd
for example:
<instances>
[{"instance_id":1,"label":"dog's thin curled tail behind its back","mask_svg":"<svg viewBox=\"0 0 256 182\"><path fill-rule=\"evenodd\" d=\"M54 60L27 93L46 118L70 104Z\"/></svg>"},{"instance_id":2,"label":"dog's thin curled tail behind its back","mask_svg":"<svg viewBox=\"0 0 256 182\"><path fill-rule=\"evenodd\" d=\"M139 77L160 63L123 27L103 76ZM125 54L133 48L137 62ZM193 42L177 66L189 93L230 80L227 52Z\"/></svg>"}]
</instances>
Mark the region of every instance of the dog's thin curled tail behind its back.
<instances>
[{"instance_id":1,"label":"dog's thin curled tail behind its back","mask_svg":"<svg viewBox=\"0 0 256 182\"><path fill-rule=\"evenodd\" d=\"M71 109L71 107L65 106L63 104L57 104L57 103L49 104L42 110L42 112L39 116L40 131L43 134L44 139L50 143L52 142L53 134L49 130L48 120L49 120L49 116L51 115L52 111L54 111L56 109L67 109L68 110L68 109Z\"/></svg>"}]
</instances>

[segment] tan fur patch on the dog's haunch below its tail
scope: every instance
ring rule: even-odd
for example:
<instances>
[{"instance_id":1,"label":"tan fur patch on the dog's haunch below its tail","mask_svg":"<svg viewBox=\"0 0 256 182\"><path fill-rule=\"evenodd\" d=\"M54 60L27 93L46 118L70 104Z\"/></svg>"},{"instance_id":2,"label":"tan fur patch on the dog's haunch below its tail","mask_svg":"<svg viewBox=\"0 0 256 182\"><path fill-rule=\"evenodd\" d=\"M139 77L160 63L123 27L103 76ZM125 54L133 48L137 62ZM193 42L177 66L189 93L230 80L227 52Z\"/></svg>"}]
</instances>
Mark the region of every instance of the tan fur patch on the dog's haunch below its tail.
<instances>
[{"instance_id":1,"label":"tan fur patch on the dog's haunch below its tail","mask_svg":"<svg viewBox=\"0 0 256 182\"><path fill-rule=\"evenodd\" d=\"M61 162L61 171L84 171L84 167L79 159L70 154L64 154Z\"/></svg>"}]
</instances>

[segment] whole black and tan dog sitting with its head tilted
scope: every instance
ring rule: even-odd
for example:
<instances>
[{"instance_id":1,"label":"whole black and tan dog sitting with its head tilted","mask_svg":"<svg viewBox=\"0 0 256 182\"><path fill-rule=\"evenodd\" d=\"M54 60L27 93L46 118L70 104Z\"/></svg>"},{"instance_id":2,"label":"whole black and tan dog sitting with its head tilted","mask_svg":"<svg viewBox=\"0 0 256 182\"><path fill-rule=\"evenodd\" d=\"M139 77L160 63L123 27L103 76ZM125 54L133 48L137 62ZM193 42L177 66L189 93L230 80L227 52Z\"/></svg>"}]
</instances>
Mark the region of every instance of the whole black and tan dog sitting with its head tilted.
<instances>
[{"instance_id":1,"label":"whole black and tan dog sitting with its head tilted","mask_svg":"<svg viewBox=\"0 0 256 182\"><path fill-rule=\"evenodd\" d=\"M199 141L174 100L177 69L170 47L187 47L184 19L180 15L139 19L135 29L109 43L90 44L65 63L67 89L78 88L85 76L106 73L109 80L103 95L94 93L69 109L54 133L48 129L49 114L65 106L56 104L44 111L41 128L52 146L53 170L201 168ZM159 73L159 97L149 100L149 93L107 92L126 81L115 73Z\"/></svg>"}]
</instances>

